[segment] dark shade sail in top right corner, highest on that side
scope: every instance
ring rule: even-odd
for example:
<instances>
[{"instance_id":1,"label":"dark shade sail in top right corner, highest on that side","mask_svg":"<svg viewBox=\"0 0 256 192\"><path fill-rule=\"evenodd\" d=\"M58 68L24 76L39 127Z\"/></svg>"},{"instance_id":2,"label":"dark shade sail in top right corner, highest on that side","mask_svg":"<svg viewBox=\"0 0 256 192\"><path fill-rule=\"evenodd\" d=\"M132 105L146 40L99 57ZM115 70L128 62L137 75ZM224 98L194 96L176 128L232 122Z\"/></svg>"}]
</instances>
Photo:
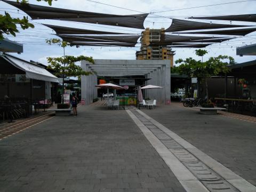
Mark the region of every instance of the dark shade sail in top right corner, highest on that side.
<instances>
[{"instance_id":1,"label":"dark shade sail in top right corner, highest on that side","mask_svg":"<svg viewBox=\"0 0 256 192\"><path fill-rule=\"evenodd\" d=\"M220 15L213 17L193 17L193 19L210 19L210 20L228 20L228 21L247 21L256 22L256 14L242 14L242 15Z\"/></svg>"}]
</instances>

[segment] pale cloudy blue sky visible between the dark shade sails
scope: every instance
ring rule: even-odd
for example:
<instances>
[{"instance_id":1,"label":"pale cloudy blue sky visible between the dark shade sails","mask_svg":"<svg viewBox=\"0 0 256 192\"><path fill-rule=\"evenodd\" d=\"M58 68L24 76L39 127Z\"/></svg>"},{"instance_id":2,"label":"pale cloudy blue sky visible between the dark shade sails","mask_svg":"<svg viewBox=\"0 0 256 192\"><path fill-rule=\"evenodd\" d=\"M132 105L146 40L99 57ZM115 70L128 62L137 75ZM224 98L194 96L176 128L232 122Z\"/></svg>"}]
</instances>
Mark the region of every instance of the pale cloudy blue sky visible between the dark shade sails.
<instances>
[{"instance_id":1,"label":"pale cloudy blue sky visible between the dark shade sails","mask_svg":"<svg viewBox=\"0 0 256 192\"><path fill-rule=\"evenodd\" d=\"M144 13L154 13L149 14L144 22L144 27L151 29L159 29L170 27L172 19L186 19L191 16L214 16L214 15L229 15L229 14L255 14L256 1L240 1L239 0L58 0L53 1L52 7L58 7L62 9L71 9L87 12L98 12L107 14L140 14ZM98 3L97 3L98 2ZM230 3L237 2L237 3ZM30 0L30 4L37 4L43 6L49 6L46 2L37 2L36 0ZM213 4L223 4L216 6L205 6ZM108 5L104 5L108 4ZM109 6L113 5L113 6ZM114 7L116 6L116 7ZM198 7L205 6L205 7ZM122 9L122 8L123 9ZM192 9L185 9L189 7L194 7ZM179 9L179 10L178 10ZM180 10L183 9L183 10ZM0 2L0 14L4 14L4 11L9 12L12 17L23 17L26 16L21 10L18 11L17 8ZM156 13L158 12L158 13ZM163 16L163 17L159 17ZM167 17L167 18L166 18ZM47 65L47 57L60 57L63 55L63 49L58 45L47 45L45 39L58 38L55 36L55 32L42 25L42 23L50 25L59 25L66 27L82 28L82 29L92 29L92 30L102 30L102 31L115 31L118 33L133 33L141 34L141 29L125 28L117 26L105 26L97 25L92 23L77 23L70 21L56 21L56 20L31 20L30 22L35 25L34 29L20 29L20 33L16 37L11 35L5 36L12 41L23 44L23 53L13 55L25 59L41 62ZM210 22L210 20L195 20L191 21L200 22ZM222 23L230 24L230 21L219 21L213 20L212 23ZM232 21L234 25L252 25L256 26L254 22L235 22ZM218 55L228 55L235 59L237 63L255 60L256 56L244 56L239 57L236 55L236 47L241 47L245 45L250 45L256 43L256 32L248 34L244 37L238 37L230 41L222 42L207 46L205 50L209 53L205 55L204 60L209 57L217 57ZM131 59L134 60L135 52L140 50L140 44L136 47L97 47L97 46L80 46L76 47L66 47L66 55L85 55L87 57L93 57L93 59ZM174 61L181 58L186 59L188 57L193 57L194 59L201 59L195 55L195 50L192 48L175 48Z\"/></svg>"}]
</instances>

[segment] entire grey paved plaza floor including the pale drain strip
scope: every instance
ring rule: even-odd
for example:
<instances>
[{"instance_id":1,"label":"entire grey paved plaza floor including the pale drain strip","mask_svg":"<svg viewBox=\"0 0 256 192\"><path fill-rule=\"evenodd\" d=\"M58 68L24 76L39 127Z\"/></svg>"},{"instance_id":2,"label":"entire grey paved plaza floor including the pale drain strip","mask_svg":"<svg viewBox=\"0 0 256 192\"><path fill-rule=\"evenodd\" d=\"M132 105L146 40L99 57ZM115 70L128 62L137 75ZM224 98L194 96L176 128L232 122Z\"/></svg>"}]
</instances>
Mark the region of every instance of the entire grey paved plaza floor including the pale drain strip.
<instances>
[{"instance_id":1,"label":"entire grey paved plaza floor including the pale drain strip","mask_svg":"<svg viewBox=\"0 0 256 192\"><path fill-rule=\"evenodd\" d=\"M77 117L17 121L16 134L4 124L14 131L0 140L0 191L255 191L254 121L179 103L107 110L98 102Z\"/></svg>"}]
</instances>

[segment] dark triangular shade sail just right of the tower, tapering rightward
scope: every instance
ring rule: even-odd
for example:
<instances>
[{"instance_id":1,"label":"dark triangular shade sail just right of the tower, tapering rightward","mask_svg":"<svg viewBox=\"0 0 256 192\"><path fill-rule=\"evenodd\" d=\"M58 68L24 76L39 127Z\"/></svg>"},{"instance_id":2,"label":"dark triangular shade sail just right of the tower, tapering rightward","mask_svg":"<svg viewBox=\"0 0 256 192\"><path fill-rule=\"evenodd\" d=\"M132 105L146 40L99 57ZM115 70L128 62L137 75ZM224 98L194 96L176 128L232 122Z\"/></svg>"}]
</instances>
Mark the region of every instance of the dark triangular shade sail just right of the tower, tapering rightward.
<instances>
[{"instance_id":1,"label":"dark triangular shade sail just right of the tower, tapering rightward","mask_svg":"<svg viewBox=\"0 0 256 192\"><path fill-rule=\"evenodd\" d=\"M169 28L167 28L165 30L165 32L197 30L197 29L233 28L233 27L251 27L251 26L226 25L226 24L215 24L215 23L205 23L205 22L172 19L172 25Z\"/></svg>"}]
</instances>

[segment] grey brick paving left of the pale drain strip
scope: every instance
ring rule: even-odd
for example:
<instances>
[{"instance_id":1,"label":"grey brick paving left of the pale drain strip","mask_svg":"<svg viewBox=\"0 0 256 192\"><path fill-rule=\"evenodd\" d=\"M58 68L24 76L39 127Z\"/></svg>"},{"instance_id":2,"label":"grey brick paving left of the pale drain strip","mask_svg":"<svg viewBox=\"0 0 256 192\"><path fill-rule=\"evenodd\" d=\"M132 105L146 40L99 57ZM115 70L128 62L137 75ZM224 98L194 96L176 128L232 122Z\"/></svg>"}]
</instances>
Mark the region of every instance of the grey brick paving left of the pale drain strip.
<instances>
[{"instance_id":1,"label":"grey brick paving left of the pale drain strip","mask_svg":"<svg viewBox=\"0 0 256 192\"><path fill-rule=\"evenodd\" d=\"M0 141L0 191L185 191L126 114L78 107Z\"/></svg>"}]
</instances>

